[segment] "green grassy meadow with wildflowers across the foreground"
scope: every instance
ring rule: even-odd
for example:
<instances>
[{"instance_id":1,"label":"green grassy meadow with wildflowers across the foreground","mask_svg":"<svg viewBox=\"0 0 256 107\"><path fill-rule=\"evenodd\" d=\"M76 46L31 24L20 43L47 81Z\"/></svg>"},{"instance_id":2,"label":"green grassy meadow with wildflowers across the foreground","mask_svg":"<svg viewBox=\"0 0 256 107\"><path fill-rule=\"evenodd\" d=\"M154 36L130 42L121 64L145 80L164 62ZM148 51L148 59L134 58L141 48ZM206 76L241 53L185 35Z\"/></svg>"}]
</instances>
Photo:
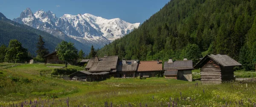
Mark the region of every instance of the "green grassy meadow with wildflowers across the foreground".
<instances>
[{"instance_id":1,"label":"green grassy meadow with wildflowers across the foreground","mask_svg":"<svg viewBox=\"0 0 256 107\"><path fill-rule=\"evenodd\" d=\"M44 64L10 65L0 63L0 107L15 107L16 104L17 107L256 106L255 80L220 85L163 77L78 82L40 76L40 71L49 73L53 69ZM68 67L82 70L77 66Z\"/></svg>"}]
</instances>

